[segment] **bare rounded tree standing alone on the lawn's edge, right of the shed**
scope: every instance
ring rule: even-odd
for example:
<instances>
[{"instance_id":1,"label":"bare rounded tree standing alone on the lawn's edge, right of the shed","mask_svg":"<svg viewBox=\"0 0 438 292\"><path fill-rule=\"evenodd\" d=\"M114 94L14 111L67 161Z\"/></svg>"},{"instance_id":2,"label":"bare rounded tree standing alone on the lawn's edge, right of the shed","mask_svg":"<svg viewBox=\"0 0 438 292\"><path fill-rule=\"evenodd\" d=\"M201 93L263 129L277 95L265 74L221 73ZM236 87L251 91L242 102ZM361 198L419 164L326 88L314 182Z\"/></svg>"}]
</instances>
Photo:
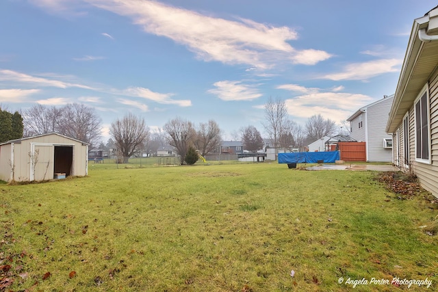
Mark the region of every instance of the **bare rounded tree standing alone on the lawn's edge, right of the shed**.
<instances>
[{"instance_id":1,"label":"bare rounded tree standing alone on the lawn's edge, right of the shed","mask_svg":"<svg viewBox=\"0 0 438 292\"><path fill-rule=\"evenodd\" d=\"M111 123L110 135L123 155L123 163L128 163L129 157L144 148L149 139L149 128L143 118L129 113L122 120Z\"/></svg>"}]
</instances>

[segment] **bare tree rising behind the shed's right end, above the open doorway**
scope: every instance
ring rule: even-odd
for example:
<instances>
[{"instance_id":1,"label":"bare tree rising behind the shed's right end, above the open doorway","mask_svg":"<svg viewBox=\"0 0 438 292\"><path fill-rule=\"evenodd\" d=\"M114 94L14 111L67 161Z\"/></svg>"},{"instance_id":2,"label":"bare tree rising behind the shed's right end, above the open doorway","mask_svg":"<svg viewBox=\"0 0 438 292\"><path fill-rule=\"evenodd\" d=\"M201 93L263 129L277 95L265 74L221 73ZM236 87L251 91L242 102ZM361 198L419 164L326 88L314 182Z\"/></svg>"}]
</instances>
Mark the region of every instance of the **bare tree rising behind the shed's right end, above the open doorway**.
<instances>
[{"instance_id":1,"label":"bare tree rising behind the shed's right end, above the open doorway","mask_svg":"<svg viewBox=\"0 0 438 292\"><path fill-rule=\"evenodd\" d=\"M57 132L90 144L93 149L101 142L101 118L94 111L94 107L87 107L81 103L70 103L62 107L60 123Z\"/></svg>"}]
</instances>

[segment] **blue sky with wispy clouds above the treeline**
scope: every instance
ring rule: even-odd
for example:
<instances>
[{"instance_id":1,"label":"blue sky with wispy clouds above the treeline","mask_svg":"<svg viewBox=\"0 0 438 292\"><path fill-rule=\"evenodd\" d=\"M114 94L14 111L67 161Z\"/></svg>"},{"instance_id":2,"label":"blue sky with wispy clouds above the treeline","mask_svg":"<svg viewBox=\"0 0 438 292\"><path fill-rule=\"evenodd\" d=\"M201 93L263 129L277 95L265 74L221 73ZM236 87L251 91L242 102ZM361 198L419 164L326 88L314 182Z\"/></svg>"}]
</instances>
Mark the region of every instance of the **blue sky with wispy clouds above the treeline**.
<instances>
[{"instance_id":1,"label":"blue sky with wispy clouds above the treeline","mask_svg":"<svg viewBox=\"0 0 438 292\"><path fill-rule=\"evenodd\" d=\"M263 105L342 124L394 94L415 18L437 1L0 0L0 105L83 103L151 131L215 120L224 140Z\"/></svg>"}]
</instances>

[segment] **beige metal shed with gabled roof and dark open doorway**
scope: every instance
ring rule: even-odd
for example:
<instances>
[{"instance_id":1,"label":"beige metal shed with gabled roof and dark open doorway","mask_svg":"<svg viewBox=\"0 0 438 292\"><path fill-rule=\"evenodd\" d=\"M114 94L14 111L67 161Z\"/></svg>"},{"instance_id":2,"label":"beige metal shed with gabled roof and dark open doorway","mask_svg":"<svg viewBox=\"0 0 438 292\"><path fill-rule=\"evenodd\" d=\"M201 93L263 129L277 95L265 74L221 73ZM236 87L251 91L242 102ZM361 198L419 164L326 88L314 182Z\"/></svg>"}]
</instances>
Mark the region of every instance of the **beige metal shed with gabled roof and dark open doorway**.
<instances>
[{"instance_id":1,"label":"beige metal shed with gabled roof and dark open doorway","mask_svg":"<svg viewBox=\"0 0 438 292\"><path fill-rule=\"evenodd\" d=\"M88 144L59 133L0 144L0 180L45 181L88 174Z\"/></svg>"}]
</instances>

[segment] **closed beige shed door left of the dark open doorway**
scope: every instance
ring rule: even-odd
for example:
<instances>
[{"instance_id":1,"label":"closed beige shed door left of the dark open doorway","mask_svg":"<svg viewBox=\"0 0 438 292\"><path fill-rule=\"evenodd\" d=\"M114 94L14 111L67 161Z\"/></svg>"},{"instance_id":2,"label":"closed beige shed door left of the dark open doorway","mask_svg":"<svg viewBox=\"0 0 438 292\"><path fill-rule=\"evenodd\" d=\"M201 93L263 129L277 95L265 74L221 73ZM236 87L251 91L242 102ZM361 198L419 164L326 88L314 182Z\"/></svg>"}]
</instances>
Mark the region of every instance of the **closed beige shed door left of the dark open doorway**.
<instances>
[{"instance_id":1,"label":"closed beige shed door left of the dark open doorway","mask_svg":"<svg viewBox=\"0 0 438 292\"><path fill-rule=\"evenodd\" d=\"M31 171L34 171L34 181L45 181L53 178L53 146L37 145L31 157Z\"/></svg>"}]
</instances>

